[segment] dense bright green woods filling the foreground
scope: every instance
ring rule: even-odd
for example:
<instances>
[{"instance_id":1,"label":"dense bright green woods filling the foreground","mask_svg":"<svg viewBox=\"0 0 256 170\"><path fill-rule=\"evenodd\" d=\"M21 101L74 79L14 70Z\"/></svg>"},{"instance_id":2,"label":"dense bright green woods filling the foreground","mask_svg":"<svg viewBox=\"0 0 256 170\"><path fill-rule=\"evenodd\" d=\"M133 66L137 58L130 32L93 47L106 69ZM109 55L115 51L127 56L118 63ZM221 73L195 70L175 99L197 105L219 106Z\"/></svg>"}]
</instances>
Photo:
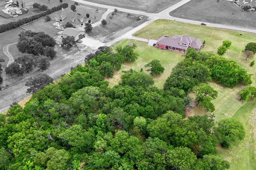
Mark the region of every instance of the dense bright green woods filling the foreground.
<instances>
[{"instance_id":1,"label":"dense bright green woods filling the foreground","mask_svg":"<svg viewBox=\"0 0 256 170\"><path fill-rule=\"evenodd\" d=\"M215 78L203 64L215 56L188 50L164 89L143 70L123 72L110 88L105 77L137 60L135 48L101 47L85 66L33 94L25 108L14 104L0 115L0 168L229 168L216 148L242 140L243 125L234 118L215 123L211 114L183 119L190 90L198 103L217 96L207 87Z\"/></svg>"}]
</instances>

